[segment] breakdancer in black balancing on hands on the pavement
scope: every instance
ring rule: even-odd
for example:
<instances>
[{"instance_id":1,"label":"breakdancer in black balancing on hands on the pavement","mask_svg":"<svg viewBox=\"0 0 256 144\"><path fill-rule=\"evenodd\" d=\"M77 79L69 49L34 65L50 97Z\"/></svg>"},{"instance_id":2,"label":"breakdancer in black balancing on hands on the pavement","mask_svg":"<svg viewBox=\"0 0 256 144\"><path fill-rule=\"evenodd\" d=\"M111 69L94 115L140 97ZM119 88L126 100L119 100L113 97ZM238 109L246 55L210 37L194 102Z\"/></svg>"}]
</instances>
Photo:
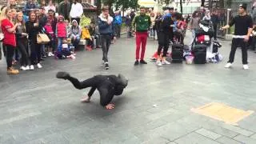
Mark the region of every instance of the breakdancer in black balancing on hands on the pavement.
<instances>
[{"instance_id":1,"label":"breakdancer in black balancing on hands on the pavement","mask_svg":"<svg viewBox=\"0 0 256 144\"><path fill-rule=\"evenodd\" d=\"M83 97L81 102L90 102L92 94L97 89L100 94L100 104L108 110L114 109L114 104L110 103L114 95L121 95L128 84L128 80L122 74L118 74L118 76L95 75L93 78L88 78L82 82L79 82L77 78L71 77L66 72L58 72L56 77L69 80L78 90L91 87L88 95Z\"/></svg>"}]
</instances>

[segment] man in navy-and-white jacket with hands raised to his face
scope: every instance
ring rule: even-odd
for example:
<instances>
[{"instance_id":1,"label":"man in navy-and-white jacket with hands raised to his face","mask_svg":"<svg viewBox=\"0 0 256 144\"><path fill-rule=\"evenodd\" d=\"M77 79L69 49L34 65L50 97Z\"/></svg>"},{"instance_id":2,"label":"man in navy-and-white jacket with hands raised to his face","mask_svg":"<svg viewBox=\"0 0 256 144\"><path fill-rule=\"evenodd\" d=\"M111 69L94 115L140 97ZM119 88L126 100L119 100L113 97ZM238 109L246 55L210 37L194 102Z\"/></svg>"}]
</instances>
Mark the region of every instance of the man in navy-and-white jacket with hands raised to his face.
<instances>
[{"instance_id":1,"label":"man in navy-and-white jacket with hands raised to his face","mask_svg":"<svg viewBox=\"0 0 256 144\"><path fill-rule=\"evenodd\" d=\"M102 65L105 65L105 69L108 70L110 66L107 55L110 49L111 38L113 36L112 34L115 34L113 27L113 18L109 14L108 6L103 6L102 14L98 16L98 29L102 40Z\"/></svg>"}]
</instances>

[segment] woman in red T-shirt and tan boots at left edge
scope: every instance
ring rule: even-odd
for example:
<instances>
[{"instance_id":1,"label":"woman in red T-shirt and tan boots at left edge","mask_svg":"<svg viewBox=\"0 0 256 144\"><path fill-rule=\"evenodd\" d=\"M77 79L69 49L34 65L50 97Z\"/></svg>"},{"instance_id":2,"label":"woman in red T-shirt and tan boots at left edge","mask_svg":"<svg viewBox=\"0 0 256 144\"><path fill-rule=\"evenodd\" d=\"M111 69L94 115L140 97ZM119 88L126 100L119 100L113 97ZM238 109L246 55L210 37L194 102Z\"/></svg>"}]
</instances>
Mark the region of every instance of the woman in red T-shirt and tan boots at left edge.
<instances>
[{"instance_id":1,"label":"woman in red T-shirt and tan boots at left edge","mask_svg":"<svg viewBox=\"0 0 256 144\"><path fill-rule=\"evenodd\" d=\"M14 50L16 47L15 32L18 24L14 25L12 18L12 11L9 7L6 7L5 10L2 10L0 22L2 33L4 34L3 44L6 46L7 74L18 74L18 70L14 70L12 67Z\"/></svg>"}]
</instances>

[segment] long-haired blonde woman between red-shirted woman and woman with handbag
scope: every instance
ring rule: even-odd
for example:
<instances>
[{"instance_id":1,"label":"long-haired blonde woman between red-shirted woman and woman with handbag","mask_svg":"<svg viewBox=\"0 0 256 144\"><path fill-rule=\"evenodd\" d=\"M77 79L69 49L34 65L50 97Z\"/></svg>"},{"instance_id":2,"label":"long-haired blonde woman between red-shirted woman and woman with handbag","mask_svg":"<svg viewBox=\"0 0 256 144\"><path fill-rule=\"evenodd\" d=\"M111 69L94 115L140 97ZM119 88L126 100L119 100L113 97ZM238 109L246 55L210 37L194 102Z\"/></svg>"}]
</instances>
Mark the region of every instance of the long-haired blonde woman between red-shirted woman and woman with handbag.
<instances>
[{"instance_id":1,"label":"long-haired blonde woman between red-shirted woman and woman with handbag","mask_svg":"<svg viewBox=\"0 0 256 144\"><path fill-rule=\"evenodd\" d=\"M21 70L30 70L29 66L29 54L27 51L27 34L26 34L26 26L23 21L23 13L22 11L18 12L16 18L16 24L18 24L16 28L16 40L17 40L17 48L22 54L22 58L20 59Z\"/></svg>"}]
</instances>

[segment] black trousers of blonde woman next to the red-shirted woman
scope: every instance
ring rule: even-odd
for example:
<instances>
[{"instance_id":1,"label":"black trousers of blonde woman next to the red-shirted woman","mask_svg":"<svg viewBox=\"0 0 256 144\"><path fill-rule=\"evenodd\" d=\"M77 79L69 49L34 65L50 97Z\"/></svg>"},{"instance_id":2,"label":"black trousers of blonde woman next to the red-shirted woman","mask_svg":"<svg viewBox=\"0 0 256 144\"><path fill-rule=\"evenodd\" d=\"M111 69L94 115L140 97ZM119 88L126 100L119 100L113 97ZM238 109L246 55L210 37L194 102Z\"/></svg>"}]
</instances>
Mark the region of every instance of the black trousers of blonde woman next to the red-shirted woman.
<instances>
[{"instance_id":1,"label":"black trousers of blonde woman next to the red-shirted woman","mask_svg":"<svg viewBox=\"0 0 256 144\"><path fill-rule=\"evenodd\" d=\"M29 54L27 51L27 39L19 38L17 44L18 44L18 50L22 54L22 58L20 59L21 66L28 66L29 65Z\"/></svg>"}]
</instances>

